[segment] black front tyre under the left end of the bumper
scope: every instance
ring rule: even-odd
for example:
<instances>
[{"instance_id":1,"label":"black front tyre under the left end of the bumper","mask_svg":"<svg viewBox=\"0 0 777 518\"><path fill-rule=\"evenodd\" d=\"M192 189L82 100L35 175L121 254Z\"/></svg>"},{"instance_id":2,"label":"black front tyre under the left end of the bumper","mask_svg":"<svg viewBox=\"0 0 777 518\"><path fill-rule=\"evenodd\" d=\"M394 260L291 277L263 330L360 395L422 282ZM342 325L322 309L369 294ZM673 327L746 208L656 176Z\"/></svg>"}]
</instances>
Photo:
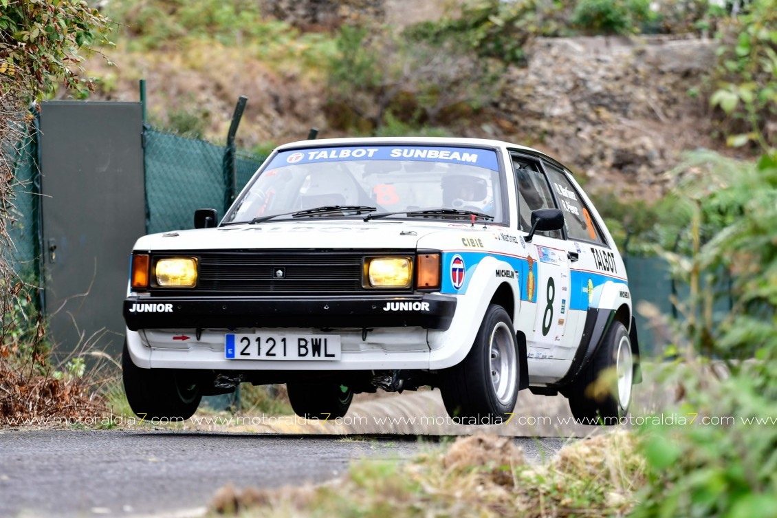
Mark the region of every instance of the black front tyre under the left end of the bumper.
<instances>
[{"instance_id":1,"label":"black front tyre under the left end of the bumper","mask_svg":"<svg viewBox=\"0 0 777 518\"><path fill-rule=\"evenodd\" d=\"M184 420L200 406L202 386L197 373L183 369L141 369L132 362L126 340L121 370L127 401L139 418Z\"/></svg>"}]
</instances>

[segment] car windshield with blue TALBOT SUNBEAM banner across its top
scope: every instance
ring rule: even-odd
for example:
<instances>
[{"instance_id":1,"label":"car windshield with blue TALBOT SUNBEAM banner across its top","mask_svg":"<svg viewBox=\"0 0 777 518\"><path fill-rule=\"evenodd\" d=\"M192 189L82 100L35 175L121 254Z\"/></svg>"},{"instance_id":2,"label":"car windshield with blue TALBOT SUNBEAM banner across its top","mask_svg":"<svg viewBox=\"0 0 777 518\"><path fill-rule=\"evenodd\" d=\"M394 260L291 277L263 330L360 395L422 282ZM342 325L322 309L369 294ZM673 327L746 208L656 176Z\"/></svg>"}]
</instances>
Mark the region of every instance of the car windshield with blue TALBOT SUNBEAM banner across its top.
<instances>
[{"instance_id":1,"label":"car windshield with blue TALBOT SUNBEAM banner across its top","mask_svg":"<svg viewBox=\"0 0 777 518\"><path fill-rule=\"evenodd\" d=\"M497 152L492 149L424 145L297 149L274 156L225 222L363 218L367 212L449 220L469 219L455 212L470 211L499 223L506 206L503 191ZM441 208L456 211L418 214Z\"/></svg>"}]
</instances>

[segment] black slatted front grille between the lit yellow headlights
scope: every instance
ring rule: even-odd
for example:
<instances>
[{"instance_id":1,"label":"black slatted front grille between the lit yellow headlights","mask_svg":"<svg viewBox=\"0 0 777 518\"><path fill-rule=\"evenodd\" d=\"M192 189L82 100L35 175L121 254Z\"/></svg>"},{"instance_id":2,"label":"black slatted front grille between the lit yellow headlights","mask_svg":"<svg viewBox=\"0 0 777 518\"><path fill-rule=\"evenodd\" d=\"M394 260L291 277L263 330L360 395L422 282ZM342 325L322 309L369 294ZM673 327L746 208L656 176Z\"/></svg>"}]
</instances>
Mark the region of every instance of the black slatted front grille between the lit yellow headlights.
<instances>
[{"instance_id":1,"label":"black slatted front grille between the lit yellow headlights","mask_svg":"<svg viewBox=\"0 0 777 518\"><path fill-rule=\"evenodd\" d=\"M396 255L392 254L379 255ZM165 254L166 255L166 254ZM177 252L175 255L186 255ZM365 255L375 252L218 252L191 254L198 257L197 287L176 290L183 294L234 295L348 295L375 290L361 285ZM408 255L408 254L404 254ZM155 254L155 257L162 257ZM276 272L283 277L277 278ZM169 289L152 289L162 293ZM410 292L412 290L392 290Z\"/></svg>"}]
</instances>

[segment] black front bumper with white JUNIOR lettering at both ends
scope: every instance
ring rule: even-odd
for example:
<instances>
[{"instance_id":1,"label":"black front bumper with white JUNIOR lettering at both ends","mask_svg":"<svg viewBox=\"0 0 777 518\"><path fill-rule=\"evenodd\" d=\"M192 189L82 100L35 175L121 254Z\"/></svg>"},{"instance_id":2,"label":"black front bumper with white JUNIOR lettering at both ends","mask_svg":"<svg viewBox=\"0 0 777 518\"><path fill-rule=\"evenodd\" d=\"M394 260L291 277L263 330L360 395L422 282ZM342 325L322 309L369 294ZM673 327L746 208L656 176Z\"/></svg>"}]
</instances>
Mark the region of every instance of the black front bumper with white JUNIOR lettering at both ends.
<instances>
[{"instance_id":1,"label":"black front bumper with white JUNIOR lettering at both ends","mask_svg":"<svg viewBox=\"0 0 777 518\"><path fill-rule=\"evenodd\" d=\"M434 294L124 299L124 320L131 331L246 327L423 327L447 331L455 310L454 296Z\"/></svg>"}]
</instances>

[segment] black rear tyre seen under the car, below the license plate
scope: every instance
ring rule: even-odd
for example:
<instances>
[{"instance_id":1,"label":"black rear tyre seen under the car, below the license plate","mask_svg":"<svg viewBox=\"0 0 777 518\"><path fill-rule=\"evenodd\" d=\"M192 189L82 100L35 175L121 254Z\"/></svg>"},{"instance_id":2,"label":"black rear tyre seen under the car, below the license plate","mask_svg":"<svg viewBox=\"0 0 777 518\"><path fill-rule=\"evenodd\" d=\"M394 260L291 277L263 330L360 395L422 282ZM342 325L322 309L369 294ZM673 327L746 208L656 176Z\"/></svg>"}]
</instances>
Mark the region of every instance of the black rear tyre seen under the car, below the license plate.
<instances>
[{"instance_id":1,"label":"black rear tyre seen under the car, below the license plate","mask_svg":"<svg viewBox=\"0 0 777 518\"><path fill-rule=\"evenodd\" d=\"M336 382L286 383L294 413L306 419L336 419L347 414L354 391Z\"/></svg>"}]
</instances>

